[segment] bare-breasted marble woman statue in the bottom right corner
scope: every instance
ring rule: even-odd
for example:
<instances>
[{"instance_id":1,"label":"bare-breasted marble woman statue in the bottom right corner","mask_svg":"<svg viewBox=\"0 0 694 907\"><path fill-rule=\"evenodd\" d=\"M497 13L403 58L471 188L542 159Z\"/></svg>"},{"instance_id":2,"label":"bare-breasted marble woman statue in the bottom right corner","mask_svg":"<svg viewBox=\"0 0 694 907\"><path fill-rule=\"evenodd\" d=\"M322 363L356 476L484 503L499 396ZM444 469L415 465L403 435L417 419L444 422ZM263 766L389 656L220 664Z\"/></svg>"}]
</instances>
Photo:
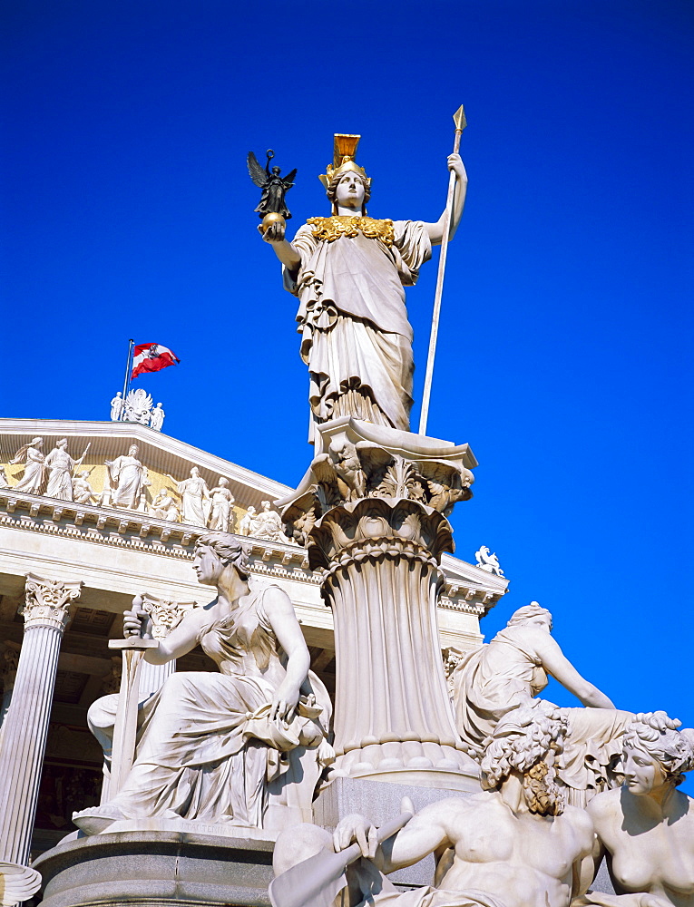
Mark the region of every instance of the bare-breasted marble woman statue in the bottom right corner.
<instances>
[{"instance_id":1,"label":"bare-breasted marble woman statue in the bottom right corner","mask_svg":"<svg viewBox=\"0 0 694 907\"><path fill-rule=\"evenodd\" d=\"M694 730L678 731L665 712L634 716L623 737L624 786L593 797L591 883L604 855L617 896L589 891L576 904L601 907L692 907L694 799L677 790L694 768Z\"/></svg>"}]
</instances>

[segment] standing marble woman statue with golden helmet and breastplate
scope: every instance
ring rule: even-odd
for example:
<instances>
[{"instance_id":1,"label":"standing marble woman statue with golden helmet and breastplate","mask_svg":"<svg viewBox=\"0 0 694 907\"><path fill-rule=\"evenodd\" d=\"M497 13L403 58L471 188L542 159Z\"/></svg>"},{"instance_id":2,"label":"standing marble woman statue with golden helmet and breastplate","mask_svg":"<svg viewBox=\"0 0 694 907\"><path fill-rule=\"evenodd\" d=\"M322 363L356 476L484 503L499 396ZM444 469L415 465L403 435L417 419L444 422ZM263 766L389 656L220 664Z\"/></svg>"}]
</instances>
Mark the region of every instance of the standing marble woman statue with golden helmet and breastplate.
<instances>
[{"instance_id":1,"label":"standing marble woman statue with golden helmet and breastplate","mask_svg":"<svg viewBox=\"0 0 694 907\"><path fill-rule=\"evenodd\" d=\"M443 238L435 223L367 217L371 180L354 161L356 144L339 149L321 177L332 216L311 218L292 242L283 222L263 239L283 265L284 285L298 296L300 353L308 365L312 424L342 415L409 430L412 327L404 287L413 286L431 247ZM348 151L348 153L342 153ZM463 213L467 177L458 154L448 157L456 189L450 235Z\"/></svg>"}]
</instances>

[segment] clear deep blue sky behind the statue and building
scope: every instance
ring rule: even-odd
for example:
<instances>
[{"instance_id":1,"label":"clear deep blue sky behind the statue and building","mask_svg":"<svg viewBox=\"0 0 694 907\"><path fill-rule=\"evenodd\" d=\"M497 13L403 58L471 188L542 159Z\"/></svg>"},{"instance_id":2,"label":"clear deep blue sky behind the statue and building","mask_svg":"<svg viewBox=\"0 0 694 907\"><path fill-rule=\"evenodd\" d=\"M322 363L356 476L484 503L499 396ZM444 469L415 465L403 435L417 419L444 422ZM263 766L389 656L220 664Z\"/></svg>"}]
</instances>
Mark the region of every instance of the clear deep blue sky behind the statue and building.
<instances>
[{"instance_id":1,"label":"clear deep blue sky behind the statue and building","mask_svg":"<svg viewBox=\"0 0 694 907\"><path fill-rule=\"evenodd\" d=\"M181 357L141 379L166 431L296 483L296 300L246 154L298 167L294 229L327 212L333 132L360 132L372 216L436 219L464 102L429 432L481 463L454 523L458 555L486 544L511 580L484 632L540 600L619 706L694 724L689 0L1 15L3 414L107 417L128 337L156 341ZM430 263L408 295L417 397L434 285Z\"/></svg>"}]
</instances>

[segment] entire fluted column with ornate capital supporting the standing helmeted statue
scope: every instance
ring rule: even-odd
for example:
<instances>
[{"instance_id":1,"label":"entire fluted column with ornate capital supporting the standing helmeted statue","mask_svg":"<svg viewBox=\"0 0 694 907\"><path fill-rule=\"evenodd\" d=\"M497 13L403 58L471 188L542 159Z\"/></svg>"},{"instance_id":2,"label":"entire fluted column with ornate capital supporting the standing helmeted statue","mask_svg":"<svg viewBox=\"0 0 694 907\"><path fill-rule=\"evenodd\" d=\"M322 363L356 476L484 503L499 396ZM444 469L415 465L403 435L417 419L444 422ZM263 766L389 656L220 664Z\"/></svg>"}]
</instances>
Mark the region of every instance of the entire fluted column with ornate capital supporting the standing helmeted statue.
<instances>
[{"instance_id":1,"label":"entire fluted column with ornate capital supporting the standing helmeted statue","mask_svg":"<svg viewBox=\"0 0 694 907\"><path fill-rule=\"evenodd\" d=\"M445 515L472 496L466 444L350 418L320 425L319 453L278 502L287 532L323 568L337 684L332 776L470 789L478 770L455 731L436 626L453 551ZM412 773L418 774L416 782Z\"/></svg>"}]
</instances>

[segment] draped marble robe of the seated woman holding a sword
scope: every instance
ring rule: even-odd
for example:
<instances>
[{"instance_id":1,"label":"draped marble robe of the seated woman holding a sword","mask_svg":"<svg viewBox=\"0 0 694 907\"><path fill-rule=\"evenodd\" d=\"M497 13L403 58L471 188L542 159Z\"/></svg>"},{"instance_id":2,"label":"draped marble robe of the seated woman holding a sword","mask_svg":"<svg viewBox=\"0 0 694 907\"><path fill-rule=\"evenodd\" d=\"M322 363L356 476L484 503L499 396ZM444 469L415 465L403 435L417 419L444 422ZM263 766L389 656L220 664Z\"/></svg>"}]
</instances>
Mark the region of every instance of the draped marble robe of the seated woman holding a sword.
<instances>
[{"instance_id":1,"label":"draped marble robe of the seated woman holding a sword","mask_svg":"<svg viewBox=\"0 0 694 907\"><path fill-rule=\"evenodd\" d=\"M292 770L291 759L280 754L319 744L318 780L321 766L333 757L325 742L330 698L309 671L288 725L270 719L286 672L263 607L265 592L251 591L228 617L210 619L200 629L200 647L220 673L177 672L142 703L136 759L122 791L105 805L74 814L75 824L88 834L84 821L94 815L261 828L269 785ZM109 759L117 701L115 695L97 699L88 713L89 727Z\"/></svg>"}]
</instances>

